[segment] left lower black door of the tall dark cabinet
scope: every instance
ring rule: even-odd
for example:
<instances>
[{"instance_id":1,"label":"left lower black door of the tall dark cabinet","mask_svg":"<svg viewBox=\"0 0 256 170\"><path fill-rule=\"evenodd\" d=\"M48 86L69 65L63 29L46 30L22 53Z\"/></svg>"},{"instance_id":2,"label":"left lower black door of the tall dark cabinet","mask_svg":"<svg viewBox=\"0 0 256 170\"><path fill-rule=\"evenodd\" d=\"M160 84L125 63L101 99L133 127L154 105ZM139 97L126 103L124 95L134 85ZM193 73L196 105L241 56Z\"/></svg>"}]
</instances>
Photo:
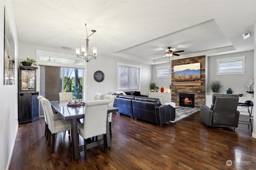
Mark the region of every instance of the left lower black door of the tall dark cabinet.
<instances>
[{"instance_id":1,"label":"left lower black door of the tall dark cabinet","mask_svg":"<svg viewBox=\"0 0 256 170\"><path fill-rule=\"evenodd\" d=\"M31 96L19 97L19 123L31 120Z\"/></svg>"}]
</instances>

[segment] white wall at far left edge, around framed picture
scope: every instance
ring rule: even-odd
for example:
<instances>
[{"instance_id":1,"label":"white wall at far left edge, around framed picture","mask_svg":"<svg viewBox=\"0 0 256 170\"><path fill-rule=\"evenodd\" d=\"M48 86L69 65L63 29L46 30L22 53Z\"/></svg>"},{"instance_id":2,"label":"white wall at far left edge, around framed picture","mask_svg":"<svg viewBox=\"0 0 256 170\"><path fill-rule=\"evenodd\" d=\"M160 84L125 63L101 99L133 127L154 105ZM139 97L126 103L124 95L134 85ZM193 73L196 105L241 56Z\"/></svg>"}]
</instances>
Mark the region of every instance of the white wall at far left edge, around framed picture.
<instances>
[{"instance_id":1,"label":"white wall at far left edge, around framed picture","mask_svg":"<svg viewBox=\"0 0 256 170\"><path fill-rule=\"evenodd\" d=\"M4 6L8 13L15 43L15 84L4 84ZM0 0L0 170L7 170L18 130L18 35L11 1Z\"/></svg>"}]
</instances>

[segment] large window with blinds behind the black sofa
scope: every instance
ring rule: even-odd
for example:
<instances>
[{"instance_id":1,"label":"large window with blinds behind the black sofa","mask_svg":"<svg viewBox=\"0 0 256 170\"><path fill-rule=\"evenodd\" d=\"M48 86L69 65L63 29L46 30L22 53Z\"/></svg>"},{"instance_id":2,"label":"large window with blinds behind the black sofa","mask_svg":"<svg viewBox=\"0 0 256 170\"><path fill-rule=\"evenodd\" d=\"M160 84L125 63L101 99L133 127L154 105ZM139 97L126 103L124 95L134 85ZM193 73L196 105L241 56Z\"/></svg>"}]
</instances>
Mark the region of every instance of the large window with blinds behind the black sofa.
<instances>
[{"instance_id":1,"label":"large window with blinds behind the black sofa","mask_svg":"<svg viewBox=\"0 0 256 170\"><path fill-rule=\"evenodd\" d=\"M140 90L140 66L118 64L118 90Z\"/></svg>"}]
</instances>

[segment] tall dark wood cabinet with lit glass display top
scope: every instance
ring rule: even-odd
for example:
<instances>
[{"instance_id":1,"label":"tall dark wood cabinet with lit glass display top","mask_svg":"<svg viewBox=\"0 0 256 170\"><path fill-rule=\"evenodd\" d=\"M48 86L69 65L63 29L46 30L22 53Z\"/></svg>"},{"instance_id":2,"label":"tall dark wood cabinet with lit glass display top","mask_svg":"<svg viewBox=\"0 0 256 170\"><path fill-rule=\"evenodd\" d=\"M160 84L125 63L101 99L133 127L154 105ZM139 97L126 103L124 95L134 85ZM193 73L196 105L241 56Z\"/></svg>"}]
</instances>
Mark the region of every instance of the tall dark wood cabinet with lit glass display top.
<instances>
[{"instance_id":1,"label":"tall dark wood cabinet with lit glass display top","mask_svg":"<svg viewBox=\"0 0 256 170\"><path fill-rule=\"evenodd\" d=\"M19 124L39 119L39 92L36 90L36 67L19 66L18 119Z\"/></svg>"}]
</instances>

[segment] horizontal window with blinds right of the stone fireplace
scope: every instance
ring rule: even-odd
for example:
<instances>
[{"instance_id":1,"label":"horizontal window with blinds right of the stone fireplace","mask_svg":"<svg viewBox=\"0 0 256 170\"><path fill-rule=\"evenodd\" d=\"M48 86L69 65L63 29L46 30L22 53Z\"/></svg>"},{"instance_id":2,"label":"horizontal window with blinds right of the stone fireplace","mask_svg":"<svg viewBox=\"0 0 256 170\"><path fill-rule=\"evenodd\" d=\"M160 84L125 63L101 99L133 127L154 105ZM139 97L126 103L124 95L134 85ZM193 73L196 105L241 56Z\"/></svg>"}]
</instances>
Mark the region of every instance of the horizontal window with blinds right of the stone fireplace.
<instances>
[{"instance_id":1,"label":"horizontal window with blinds right of the stone fireplace","mask_svg":"<svg viewBox=\"0 0 256 170\"><path fill-rule=\"evenodd\" d=\"M217 60L217 75L244 74L245 56Z\"/></svg>"}]
</instances>

